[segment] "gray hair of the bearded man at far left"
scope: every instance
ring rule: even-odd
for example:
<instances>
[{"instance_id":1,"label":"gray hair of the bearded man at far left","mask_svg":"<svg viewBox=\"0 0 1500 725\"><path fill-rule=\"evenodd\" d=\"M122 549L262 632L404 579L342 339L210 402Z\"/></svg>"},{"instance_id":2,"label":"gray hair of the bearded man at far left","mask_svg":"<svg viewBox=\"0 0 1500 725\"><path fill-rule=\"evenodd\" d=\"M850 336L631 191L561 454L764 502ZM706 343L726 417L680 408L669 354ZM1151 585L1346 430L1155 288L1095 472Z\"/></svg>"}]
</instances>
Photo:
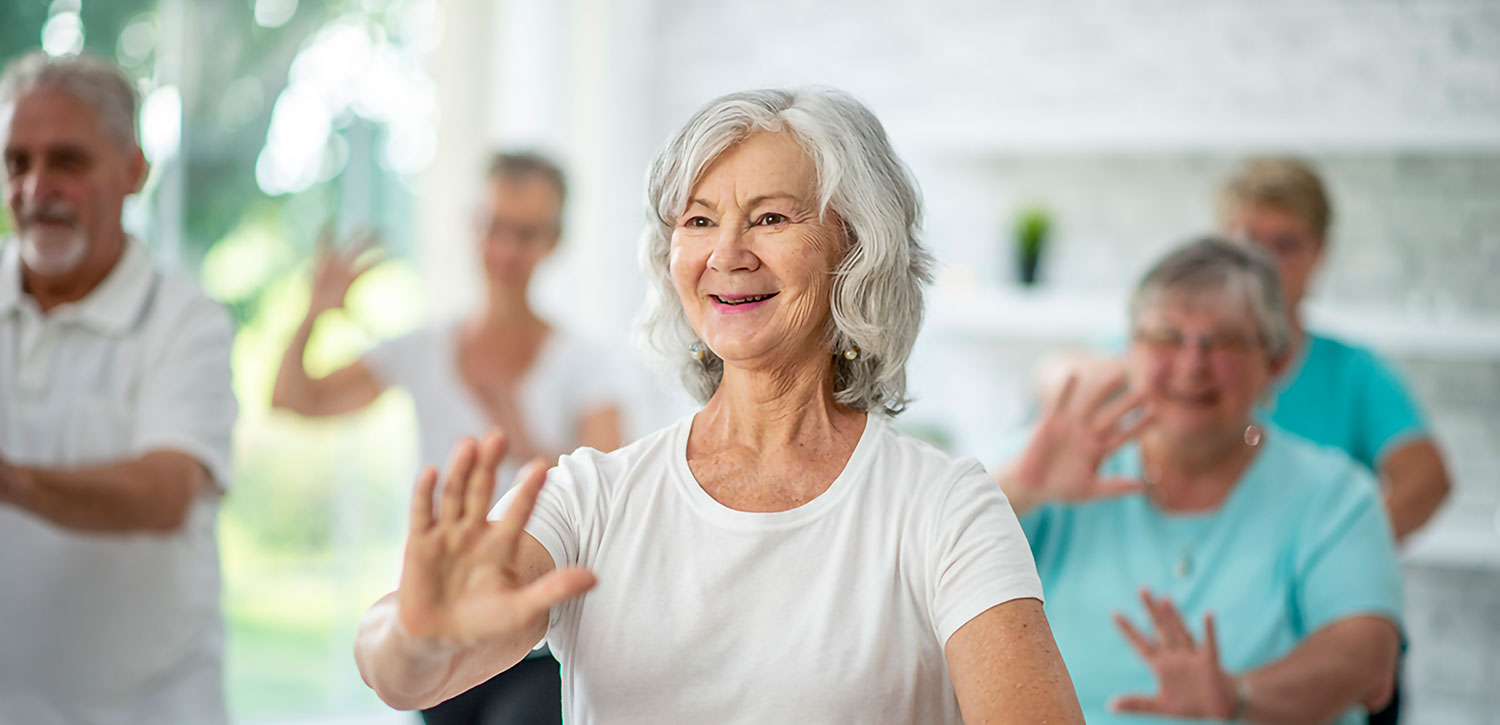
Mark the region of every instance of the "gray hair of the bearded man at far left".
<instances>
[{"instance_id":1,"label":"gray hair of the bearded man at far left","mask_svg":"<svg viewBox=\"0 0 1500 725\"><path fill-rule=\"evenodd\" d=\"M99 114L99 126L120 149L135 149L140 99L130 80L114 63L92 56L21 56L0 75L0 108L34 90L60 90Z\"/></svg>"}]
</instances>

